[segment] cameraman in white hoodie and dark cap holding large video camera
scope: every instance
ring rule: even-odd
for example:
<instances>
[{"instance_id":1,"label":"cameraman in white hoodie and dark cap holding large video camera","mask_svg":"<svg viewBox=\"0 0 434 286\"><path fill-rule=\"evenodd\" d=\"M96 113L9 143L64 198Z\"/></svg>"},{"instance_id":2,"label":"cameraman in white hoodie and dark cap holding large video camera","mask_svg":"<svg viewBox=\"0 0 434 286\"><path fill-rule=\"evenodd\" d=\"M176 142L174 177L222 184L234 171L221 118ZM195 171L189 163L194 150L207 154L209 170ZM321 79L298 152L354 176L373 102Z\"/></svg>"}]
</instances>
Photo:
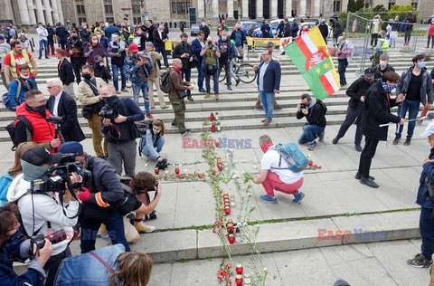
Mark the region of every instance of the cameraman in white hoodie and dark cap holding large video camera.
<instances>
[{"instance_id":1,"label":"cameraman in white hoodie and dark cap holding large video camera","mask_svg":"<svg viewBox=\"0 0 434 286\"><path fill-rule=\"evenodd\" d=\"M50 154L45 148L27 150L21 159L23 174L14 178L7 192L7 200L18 205L25 234L46 236L65 231L65 237L53 245L52 257L44 265L49 272L55 272L59 262L71 256L68 244L79 215L77 197L82 177L75 172L75 165L67 170L61 159L61 153Z\"/></svg>"}]
</instances>

